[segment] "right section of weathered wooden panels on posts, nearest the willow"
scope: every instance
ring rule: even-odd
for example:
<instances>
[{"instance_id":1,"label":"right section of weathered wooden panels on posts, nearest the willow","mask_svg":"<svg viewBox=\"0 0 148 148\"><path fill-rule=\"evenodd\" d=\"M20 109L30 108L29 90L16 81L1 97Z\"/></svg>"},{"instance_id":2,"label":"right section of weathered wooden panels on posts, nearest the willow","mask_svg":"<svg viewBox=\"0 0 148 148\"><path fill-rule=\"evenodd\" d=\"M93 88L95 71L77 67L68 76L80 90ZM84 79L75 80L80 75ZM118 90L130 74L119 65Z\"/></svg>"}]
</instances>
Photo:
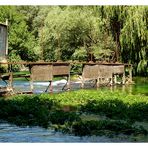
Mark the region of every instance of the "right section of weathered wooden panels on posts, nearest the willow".
<instances>
[{"instance_id":1,"label":"right section of weathered wooden panels on posts, nearest the willow","mask_svg":"<svg viewBox=\"0 0 148 148\"><path fill-rule=\"evenodd\" d=\"M95 80L97 87L100 84L113 85L122 83L125 84L125 67L128 64L99 64L99 63L86 63L83 64L82 70L82 88L84 82L87 80ZM130 66L131 67L131 66ZM131 67L132 68L132 67ZM130 68L130 69L131 69ZM132 81L131 70L129 71L130 81ZM120 82L117 81L120 77Z\"/></svg>"}]
</instances>

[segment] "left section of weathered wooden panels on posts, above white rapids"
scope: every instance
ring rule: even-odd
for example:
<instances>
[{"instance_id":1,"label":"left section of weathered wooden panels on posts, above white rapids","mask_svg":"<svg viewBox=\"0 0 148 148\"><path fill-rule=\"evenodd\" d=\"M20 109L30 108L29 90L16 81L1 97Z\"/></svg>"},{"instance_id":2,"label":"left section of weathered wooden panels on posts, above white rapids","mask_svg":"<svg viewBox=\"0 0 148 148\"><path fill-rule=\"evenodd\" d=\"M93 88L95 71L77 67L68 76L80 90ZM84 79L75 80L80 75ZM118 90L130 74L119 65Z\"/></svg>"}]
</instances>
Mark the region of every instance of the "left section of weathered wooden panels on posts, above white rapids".
<instances>
[{"instance_id":1,"label":"left section of weathered wooden panels on posts, above white rapids","mask_svg":"<svg viewBox=\"0 0 148 148\"><path fill-rule=\"evenodd\" d=\"M33 91L34 81L50 82L45 91L47 91L48 88L50 88L49 91L52 91L53 78L58 76L66 76L66 85L67 88L70 88L70 63L34 63L30 67L31 91Z\"/></svg>"}]
</instances>

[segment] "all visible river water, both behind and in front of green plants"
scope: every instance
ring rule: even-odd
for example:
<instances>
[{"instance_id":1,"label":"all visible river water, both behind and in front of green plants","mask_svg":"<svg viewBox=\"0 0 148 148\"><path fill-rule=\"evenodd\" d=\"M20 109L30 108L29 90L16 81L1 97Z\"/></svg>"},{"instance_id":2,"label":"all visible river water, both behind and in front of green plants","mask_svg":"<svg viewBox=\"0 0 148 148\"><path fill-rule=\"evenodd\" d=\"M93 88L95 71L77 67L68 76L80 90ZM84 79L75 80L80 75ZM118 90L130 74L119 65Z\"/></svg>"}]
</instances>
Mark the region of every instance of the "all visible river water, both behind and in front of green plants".
<instances>
[{"instance_id":1,"label":"all visible river water, both behind and in front of green plants","mask_svg":"<svg viewBox=\"0 0 148 148\"><path fill-rule=\"evenodd\" d=\"M62 87L65 85L66 81L56 81L53 82L53 92L62 91ZM34 92L42 93L46 90L49 83L34 83ZM3 82L0 82L0 85L3 85ZM15 91L29 91L30 84L26 81L15 81L14 82ZM80 88L80 83L72 83L72 89L76 90ZM106 89L106 88L103 88ZM127 91L128 93L138 94L142 93L143 95L148 95L148 84L140 83L130 86L116 86L112 87L112 90L122 90ZM44 129L41 127L18 127L16 125L9 124L4 121L0 121L0 142L43 142L43 143L86 143L86 142L130 142L129 137L124 135L119 135L114 138L108 138L105 136L91 136L91 137L78 137L73 135L67 135L60 132L55 132L52 129Z\"/></svg>"}]
</instances>

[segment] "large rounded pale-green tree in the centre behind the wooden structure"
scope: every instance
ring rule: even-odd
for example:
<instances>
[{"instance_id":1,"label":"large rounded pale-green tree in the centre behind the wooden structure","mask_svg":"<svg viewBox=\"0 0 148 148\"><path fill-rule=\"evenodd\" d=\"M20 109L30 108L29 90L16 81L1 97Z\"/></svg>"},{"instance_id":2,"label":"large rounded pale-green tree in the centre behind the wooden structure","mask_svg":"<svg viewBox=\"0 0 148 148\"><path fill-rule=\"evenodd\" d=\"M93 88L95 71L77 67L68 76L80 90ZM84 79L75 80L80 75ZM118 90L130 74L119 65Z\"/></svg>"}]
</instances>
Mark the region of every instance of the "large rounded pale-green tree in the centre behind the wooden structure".
<instances>
[{"instance_id":1,"label":"large rounded pale-green tree in the centre behind the wooden structure","mask_svg":"<svg viewBox=\"0 0 148 148\"><path fill-rule=\"evenodd\" d=\"M104 22L91 9L51 7L47 13L40 31L45 59L86 61L88 54L99 50L99 45L105 46L101 42Z\"/></svg>"}]
</instances>

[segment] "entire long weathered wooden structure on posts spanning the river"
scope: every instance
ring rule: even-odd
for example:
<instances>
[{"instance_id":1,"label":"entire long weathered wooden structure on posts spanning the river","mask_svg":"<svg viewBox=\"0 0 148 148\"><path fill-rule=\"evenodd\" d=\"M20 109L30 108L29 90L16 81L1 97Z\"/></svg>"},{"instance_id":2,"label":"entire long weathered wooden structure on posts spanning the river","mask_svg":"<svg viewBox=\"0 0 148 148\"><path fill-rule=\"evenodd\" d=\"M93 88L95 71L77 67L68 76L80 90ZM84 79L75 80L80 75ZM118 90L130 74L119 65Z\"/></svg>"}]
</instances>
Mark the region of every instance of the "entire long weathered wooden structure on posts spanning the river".
<instances>
[{"instance_id":1,"label":"entire long weathered wooden structure on posts spanning the river","mask_svg":"<svg viewBox=\"0 0 148 148\"><path fill-rule=\"evenodd\" d=\"M35 81L49 82L49 86L45 90L52 91L52 81L54 77L64 76L67 77L67 88L70 89L70 70L71 64L73 63L56 63L56 62L17 62L17 63L0 63L0 64L23 64L30 65L30 74L19 74L14 75L11 69L7 74L1 74L0 78L6 82L6 86L13 90L13 78L25 77L30 78L31 92L33 92L33 83ZM95 80L96 86L100 85L115 85L115 84L125 84L127 77L125 76L125 67L129 68L128 79L132 81L132 65L129 64L100 64L100 63L79 63L83 64L82 68L82 88L84 87L85 81ZM119 79L120 78L120 79ZM119 79L119 80L118 80ZM64 87L65 87L64 86ZM64 89L63 87L63 89ZM13 92L13 91L12 91Z\"/></svg>"}]
</instances>

